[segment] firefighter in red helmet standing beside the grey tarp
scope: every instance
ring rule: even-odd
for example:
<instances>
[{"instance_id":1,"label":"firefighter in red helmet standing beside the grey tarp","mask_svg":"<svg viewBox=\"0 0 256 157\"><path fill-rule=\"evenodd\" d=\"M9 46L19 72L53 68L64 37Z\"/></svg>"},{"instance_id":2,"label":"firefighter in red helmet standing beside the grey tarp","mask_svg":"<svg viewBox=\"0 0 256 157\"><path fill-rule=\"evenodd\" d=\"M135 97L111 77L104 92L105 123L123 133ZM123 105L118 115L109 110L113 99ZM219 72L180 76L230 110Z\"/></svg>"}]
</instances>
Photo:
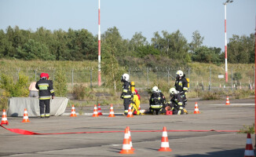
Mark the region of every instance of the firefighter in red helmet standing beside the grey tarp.
<instances>
[{"instance_id":1,"label":"firefighter in red helmet standing beside the grey tarp","mask_svg":"<svg viewBox=\"0 0 256 157\"><path fill-rule=\"evenodd\" d=\"M40 80L36 82L35 88L39 90L39 107L40 107L40 117L49 118L49 100L54 99L53 82L49 80L49 75L47 73L42 73L40 75ZM46 111L45 111L46 107Z\"/></svg>"}]
</instances>

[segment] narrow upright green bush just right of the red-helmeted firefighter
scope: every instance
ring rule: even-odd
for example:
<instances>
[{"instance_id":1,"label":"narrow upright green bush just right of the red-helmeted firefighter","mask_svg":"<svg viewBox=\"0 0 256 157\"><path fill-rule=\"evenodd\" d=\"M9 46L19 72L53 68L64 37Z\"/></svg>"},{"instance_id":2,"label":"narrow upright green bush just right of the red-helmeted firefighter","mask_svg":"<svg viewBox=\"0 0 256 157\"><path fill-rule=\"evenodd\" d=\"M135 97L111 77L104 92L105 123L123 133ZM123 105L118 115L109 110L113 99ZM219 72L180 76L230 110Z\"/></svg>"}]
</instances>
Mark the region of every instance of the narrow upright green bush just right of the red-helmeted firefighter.
<instances>
[{"instance_id":1,"label":"narrow upright green bush just right of the red-helmeted firefighter","mask_svg":"<svg viewBox=\"0 0 256 157\"><path fill-rule=\"evenodd\" d=\"M66 97L68 93L68 81L64 69L57 70L53 82L54 93L58 97Z\"/></svg>"}]
</instances>

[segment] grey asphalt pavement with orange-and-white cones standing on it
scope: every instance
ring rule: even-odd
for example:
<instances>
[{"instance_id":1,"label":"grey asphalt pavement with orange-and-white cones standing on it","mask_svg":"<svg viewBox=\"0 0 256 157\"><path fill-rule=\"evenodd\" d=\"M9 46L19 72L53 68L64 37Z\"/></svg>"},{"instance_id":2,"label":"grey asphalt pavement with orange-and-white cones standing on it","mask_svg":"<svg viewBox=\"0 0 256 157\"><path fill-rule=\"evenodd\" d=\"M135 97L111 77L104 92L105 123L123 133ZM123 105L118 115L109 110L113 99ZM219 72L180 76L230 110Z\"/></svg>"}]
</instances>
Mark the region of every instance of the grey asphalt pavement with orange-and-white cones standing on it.
<instances>
[{"instance_id":1,"label":"grey asphalt pavement with orange-and-white cones standing on it","mask_svg":"<svg viewBox=\"0 0 256 157\"><path fill-rule=\"evenodd\" d=\"M195 102L200 114L193 114ZM148 104L141 104L148 109ZM114 104L115 117L108 117L110 107L101 106L104 115L92 117L93 107L75 108L77 117L70 117L68 106L64 115L49 119L8 117L6 128L35 133L68 133L21 135L0 128L0 156L243 156L247 134L232 131L254 123L254 99L189 100L188 115L123 116L123 106ZM80 115L79 115L80 113ZM123 131L130 126L133 155L123 155ZM172 152L159 152L166 126ZM211 130L211 131L210 131ZM218 132L226 131L226 132ZM255 136L251 135L255 144Z\"/></svg>"}]
</instances>

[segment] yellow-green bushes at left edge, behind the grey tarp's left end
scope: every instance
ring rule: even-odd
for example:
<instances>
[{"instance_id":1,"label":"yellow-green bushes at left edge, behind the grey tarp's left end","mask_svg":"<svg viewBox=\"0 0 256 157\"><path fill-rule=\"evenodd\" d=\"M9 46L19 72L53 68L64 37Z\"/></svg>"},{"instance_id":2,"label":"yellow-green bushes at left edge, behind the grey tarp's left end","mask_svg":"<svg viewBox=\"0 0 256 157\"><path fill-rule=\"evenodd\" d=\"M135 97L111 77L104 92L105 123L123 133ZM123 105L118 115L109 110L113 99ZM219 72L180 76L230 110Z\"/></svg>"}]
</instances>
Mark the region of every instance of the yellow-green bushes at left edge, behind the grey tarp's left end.
<instances>
[{"instance_id":1,"label":"yellow-green bushes at left edge, behind the grey tarp's left end","mask_svg":"<svg viewBox=\"0 0 256 157\"><path fill-rule=\"evenodd\" d=\"M4 90L6 97L28 97L28 77L19 74L19 79L14 82L13 77L2 74L0 88Z\"/></svg>"}]
</instances>

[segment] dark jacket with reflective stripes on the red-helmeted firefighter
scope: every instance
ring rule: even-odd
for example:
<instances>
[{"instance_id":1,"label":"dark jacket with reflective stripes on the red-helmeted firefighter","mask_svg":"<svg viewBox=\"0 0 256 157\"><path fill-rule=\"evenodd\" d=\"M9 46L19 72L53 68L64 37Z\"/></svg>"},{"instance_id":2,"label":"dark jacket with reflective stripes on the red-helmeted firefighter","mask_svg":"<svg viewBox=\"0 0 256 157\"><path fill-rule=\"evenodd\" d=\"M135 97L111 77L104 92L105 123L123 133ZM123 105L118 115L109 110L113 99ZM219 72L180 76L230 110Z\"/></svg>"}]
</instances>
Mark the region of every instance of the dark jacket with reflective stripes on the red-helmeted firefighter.
<instances>
[{"instance_id":1,"label":"dark jacket with reflective stripes on the red-helmeted firefighter","mask_svg":"<svg viewBox=\"0 0 256 157\"><path fill-rule=\"evenodd\" d=\"M49 100L54 96L53 82L48 79L40 79L35 88L39 90L39 100Z\"/></svg>"}]
</instances>

